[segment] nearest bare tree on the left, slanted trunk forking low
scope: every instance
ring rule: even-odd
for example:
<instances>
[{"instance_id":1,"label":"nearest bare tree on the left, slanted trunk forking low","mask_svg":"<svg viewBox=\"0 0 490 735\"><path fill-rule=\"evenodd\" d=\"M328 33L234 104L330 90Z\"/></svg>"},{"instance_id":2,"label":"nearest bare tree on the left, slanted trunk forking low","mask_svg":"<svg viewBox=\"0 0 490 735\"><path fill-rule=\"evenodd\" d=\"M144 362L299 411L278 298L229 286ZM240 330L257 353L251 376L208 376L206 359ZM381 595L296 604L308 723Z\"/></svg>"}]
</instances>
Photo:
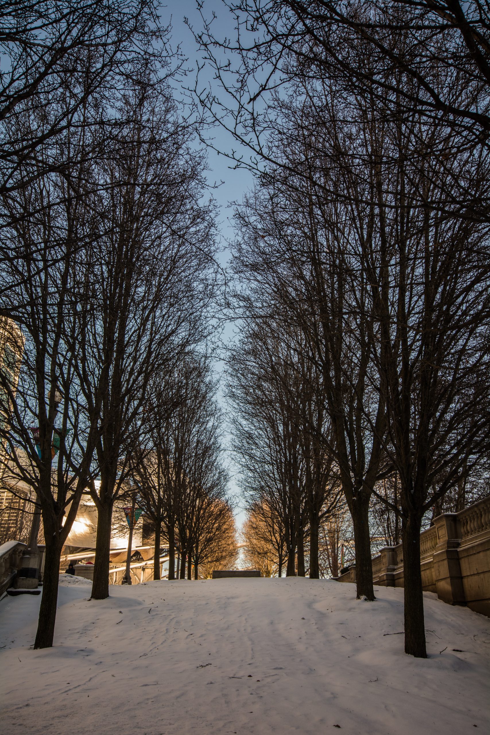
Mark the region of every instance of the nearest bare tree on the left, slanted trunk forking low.
<instances>
[{"instance_id":1,"label":"nearest bare tree on the left, slanted trunk forking low","mask_svg":"<svg viewBox=\"0 0 490 735\"><path fill-rule=\"evenodd\" d=\"M76 178L83 135L69 137L68 146ZM12 224L1 245L0 309L15 323L18 379L12 380L12 365L3 361L1 462L10 487L18 482L33 492L43 518L46 558L35 648L53 642L60 554L92 476L95 447L72 346L78 337L75 304L87 298L76 278L77 254L93 228L82 197L65 184L57 176L37 177L15 202L3 202ZM37 548L30 551L34 558Z\"/></svg>"}]
</instances>

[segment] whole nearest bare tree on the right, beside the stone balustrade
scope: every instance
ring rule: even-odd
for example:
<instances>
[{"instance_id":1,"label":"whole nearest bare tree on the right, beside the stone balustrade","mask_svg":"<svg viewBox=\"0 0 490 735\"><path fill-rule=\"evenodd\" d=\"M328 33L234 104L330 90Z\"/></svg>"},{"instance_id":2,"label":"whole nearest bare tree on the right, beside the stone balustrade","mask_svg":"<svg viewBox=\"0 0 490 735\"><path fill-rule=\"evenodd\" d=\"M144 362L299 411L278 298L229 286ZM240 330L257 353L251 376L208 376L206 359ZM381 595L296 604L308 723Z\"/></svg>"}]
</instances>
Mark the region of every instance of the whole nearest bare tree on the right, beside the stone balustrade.
<instances>
[{"instance_id":1,"label":"whole nearest bare tree on the right, beside the stone balustrade","mask_svg":"<svg viewBox=\"0 0 490 735\"><path fill-rule=\"evenodd\" d=\"M412 187L425 187L433 200L444 197L445 187L426 175L419 159L406 161L410 128L393 131L398 154L389 172L383 166L382 268L371 287L385 345L378 365L386 381L386 452L400 477L406 652L425 656L422 518L480 462L488 445L489 240L486 226L414 205ZM466 165L465 158L458 165ZM390 187L387 177L393 177ZM477 174L475 194L479 182Z\"/></svg>"}]
</instances>

